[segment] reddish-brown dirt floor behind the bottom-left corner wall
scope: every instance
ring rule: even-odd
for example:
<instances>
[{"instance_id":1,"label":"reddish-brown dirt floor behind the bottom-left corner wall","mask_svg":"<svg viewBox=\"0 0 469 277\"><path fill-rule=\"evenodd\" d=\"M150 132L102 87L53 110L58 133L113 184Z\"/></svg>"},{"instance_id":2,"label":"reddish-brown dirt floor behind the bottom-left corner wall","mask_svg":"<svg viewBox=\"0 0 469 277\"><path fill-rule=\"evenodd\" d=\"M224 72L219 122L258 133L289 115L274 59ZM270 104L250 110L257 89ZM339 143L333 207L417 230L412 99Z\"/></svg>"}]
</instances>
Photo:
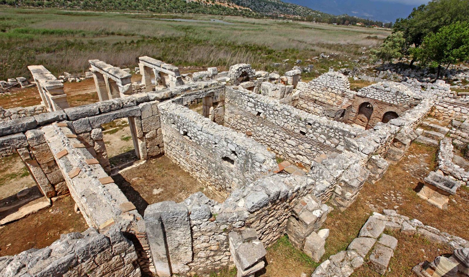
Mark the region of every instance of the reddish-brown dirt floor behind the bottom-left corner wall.
<instances>
[{"instance_id":1,"label":"reddish-brown dirt floor behind the bottom-left corner wall","mask_svg":"<svg viewBox=\"0 0 469 277\"><path fill-rule=\"evenodd\" d=\"M30 248L43 248L61 234L88 229L81 214L73 210L71 196L59 199L49 209L0 226L0 256L15 255Z\"/></svg>"}]
</instances>

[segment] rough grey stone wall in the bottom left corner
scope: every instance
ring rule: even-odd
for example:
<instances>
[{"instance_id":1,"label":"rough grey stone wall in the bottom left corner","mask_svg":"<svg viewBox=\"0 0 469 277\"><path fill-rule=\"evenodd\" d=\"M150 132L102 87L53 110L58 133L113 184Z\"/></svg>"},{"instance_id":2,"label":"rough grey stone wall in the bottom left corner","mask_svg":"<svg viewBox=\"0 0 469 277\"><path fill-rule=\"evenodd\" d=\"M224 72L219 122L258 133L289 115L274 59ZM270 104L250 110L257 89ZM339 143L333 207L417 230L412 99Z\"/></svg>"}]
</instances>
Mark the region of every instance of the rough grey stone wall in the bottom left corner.
<instances>
[{"instance_id":1,"label":"rough grey stone wall in the bottom left corner","mask_svg":"<svg viewBox=\"0 0 469 277\"><path fill-rule=\"evenodd\" d=\"M42 249L29 249L15 256L0 257L4 277L140 277L132 241L118 228L104 234L95 229L62 234Z\"/></svg>"}]
</instances>

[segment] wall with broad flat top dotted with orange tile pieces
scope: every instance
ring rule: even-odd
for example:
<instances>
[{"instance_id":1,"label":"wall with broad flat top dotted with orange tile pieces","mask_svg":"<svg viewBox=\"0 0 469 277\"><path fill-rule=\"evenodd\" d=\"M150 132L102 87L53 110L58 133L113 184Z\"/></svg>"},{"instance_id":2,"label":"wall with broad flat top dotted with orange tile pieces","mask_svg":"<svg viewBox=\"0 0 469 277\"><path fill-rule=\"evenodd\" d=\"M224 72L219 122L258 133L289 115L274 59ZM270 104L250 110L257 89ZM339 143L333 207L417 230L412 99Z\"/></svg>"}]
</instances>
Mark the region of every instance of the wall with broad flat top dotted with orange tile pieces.
<instances>
[{"instance_id":1,"label":"wall with broad flat top dotted with orange tile pieces","mask_svg":"<svg viewBox=\"0 0 469 277\"><path fill-rule=\"evenodd\" d=\"M65 125L43 127L45 141L86 223L100 233L118 226L133 241L140 268L154 270L142 216Z\"/></svg>"}]
</instances>

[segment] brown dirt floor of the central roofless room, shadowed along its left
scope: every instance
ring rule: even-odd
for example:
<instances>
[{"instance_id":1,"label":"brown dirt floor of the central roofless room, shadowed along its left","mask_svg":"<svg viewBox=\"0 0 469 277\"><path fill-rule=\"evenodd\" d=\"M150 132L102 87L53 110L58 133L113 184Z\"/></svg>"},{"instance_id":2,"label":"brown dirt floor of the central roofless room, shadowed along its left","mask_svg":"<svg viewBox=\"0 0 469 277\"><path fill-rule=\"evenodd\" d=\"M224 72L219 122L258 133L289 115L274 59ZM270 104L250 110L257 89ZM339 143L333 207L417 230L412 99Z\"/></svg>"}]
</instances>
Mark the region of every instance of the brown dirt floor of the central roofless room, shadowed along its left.
<instances>
[{"instance_id":1,"label":"brown dirt floor of the central roofless room, shadowed along its left","mask_svg":"<svg viewBox=\"0 0 469 277\"><path fill-rule=\"evenodd\" d=\"M149 204L161 201L182 202L198 191L211 199L223 201L165 156L125 170L114 175L113 179L142 215Z\"/></svg>"}]
</instances>

